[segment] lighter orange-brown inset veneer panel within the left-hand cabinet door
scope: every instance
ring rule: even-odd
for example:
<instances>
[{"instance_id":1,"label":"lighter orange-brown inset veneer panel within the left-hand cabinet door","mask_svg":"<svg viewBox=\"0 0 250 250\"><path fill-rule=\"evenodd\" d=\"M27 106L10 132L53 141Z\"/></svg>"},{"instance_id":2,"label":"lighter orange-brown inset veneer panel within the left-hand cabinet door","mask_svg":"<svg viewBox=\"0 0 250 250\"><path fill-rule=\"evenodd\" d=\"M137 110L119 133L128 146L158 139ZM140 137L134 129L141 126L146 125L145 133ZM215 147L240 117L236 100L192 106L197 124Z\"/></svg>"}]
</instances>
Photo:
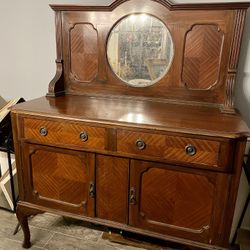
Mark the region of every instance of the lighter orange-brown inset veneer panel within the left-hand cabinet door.
<instances>
[{"instance_id":1,"label":"lighter orange-brown inset veneer panel within the left-hand cabinet door","mask_svg":"<svg viewBox=\"0 0 250 250\"><path fill-rule=\"evenodd\" d=\"M88 197L88 161L77 155L37 150L31 156L33 188L46 199L75 205Z\"/></svg>"}]
</instances>

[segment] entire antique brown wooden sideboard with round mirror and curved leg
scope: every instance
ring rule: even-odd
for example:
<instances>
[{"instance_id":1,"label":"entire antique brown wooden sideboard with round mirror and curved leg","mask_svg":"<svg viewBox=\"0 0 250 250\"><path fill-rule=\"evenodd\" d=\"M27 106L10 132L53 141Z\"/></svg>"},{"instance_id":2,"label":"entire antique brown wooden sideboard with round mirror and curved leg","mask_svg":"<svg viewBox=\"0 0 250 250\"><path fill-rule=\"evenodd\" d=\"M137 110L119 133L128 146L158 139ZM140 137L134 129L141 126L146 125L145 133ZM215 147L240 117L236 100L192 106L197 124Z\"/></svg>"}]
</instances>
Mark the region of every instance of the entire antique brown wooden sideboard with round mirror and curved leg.
<instances>
[{"instance_id":1,"label":"entire antique brown wooden sideboard with round mirror and curved leg","mask_svg":"<svg viewBox=\"0 0 250 250\"><path fill-rule=\"evenodd\" d=\"M42 212L229 247L250 135L234 108L249 6L51 5L56 75L12 109L23 247Z\"/></svg>"}]
</instances>

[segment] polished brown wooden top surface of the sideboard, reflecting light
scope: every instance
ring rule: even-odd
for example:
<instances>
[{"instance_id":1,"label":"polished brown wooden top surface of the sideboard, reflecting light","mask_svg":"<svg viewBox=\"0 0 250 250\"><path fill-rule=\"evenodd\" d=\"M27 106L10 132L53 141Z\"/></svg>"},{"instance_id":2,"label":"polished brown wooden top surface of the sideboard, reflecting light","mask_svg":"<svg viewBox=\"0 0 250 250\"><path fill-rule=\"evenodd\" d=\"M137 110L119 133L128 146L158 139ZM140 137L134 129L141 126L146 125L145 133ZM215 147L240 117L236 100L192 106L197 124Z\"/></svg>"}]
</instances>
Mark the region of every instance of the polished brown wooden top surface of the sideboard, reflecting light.
<instances>
[{"instance_id":1,"label":"polished brown wooden top surface of the sideboard, reflecting light","mask_svg":"<svg viewBox=\"0 0 250 250\"><path fill-rule=\"evenodd\" d=\"M126 98L66 95L41 97L16 105L12 112L104 125L237 138L250 136L240 115L217 108Z\"/></svg>"}]
</instances>

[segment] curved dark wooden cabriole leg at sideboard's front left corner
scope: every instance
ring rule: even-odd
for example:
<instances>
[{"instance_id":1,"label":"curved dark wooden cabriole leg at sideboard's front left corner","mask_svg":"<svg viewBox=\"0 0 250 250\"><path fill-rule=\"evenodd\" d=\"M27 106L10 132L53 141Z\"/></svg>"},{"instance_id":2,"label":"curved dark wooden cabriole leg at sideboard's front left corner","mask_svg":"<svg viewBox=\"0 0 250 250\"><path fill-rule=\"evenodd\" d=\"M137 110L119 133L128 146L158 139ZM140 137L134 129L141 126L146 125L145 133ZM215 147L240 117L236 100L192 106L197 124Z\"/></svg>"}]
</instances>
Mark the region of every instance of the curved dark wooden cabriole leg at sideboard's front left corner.
<instances>
[{"instance_id":1,"label":"curved dark wooden cabriole leg at sideboard's front left corner","mask_svg":"<svg viewBox=\"0 0 250 250\"><path fill-rule=\"evenodd\" d=\"M20 204L17 205L16 216L23 230L23 235L24 235L23 248L30 248L31 246L28 217L39 213L42 213L42 211L30 207L25 207Z\"/></svg>"}]
</instances>

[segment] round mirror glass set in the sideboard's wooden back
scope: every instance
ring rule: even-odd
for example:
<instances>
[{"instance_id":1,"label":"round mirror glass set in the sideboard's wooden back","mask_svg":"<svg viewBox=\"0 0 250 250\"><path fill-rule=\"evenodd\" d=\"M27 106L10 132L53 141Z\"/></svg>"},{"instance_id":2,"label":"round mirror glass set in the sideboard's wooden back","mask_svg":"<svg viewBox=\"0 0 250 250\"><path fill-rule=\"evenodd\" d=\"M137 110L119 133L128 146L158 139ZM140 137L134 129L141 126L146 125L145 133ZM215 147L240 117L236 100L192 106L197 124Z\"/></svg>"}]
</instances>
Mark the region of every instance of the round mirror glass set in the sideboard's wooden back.
<instances>
[{"instance_id":1,"label":"round mirror glass set in the sideboard's wooden back","mask_svg":"<svg viewBox=\"0 0 250 250\"><path fill-rule=\"evenodd\" d=\"M107 57L114 73L127 84L146 87L159 81L173 59L167 27L147 14L123 18L111 31Z\"/></svg>"}]
</instances>

